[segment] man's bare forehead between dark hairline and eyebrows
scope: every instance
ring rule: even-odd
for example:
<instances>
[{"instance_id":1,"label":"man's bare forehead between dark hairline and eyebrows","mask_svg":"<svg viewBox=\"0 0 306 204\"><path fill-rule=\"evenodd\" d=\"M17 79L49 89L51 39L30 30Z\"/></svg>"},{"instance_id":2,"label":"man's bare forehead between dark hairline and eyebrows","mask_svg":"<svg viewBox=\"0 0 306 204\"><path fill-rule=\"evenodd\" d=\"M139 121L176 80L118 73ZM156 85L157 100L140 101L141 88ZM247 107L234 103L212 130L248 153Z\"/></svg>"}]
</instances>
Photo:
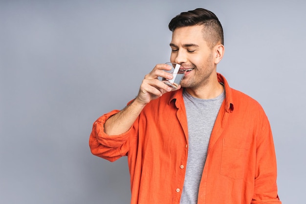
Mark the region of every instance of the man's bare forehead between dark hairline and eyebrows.
<instances>
[{"instance_id":1,"label":"man's bare forehead between dark hairline and eyebrows","mask_svg":"<svg viewBox=\"0 0 306 204\"><path fill-rule=\"evenodd\" d=\"M206 43L203 35L203 25L193 25L176 28L172 33L172 44L202 44Z\"/></svg>"}]
</instances>

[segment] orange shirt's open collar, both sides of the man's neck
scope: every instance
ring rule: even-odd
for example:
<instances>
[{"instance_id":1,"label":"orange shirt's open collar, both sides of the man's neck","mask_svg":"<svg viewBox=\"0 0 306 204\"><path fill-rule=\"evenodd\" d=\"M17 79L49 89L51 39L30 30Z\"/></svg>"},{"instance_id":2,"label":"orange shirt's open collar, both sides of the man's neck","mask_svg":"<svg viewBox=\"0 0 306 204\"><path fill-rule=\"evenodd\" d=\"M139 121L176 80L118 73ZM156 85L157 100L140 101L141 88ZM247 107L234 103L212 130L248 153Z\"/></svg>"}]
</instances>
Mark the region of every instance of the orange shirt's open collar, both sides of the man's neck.
<instances>
[{"instance_id":1,"label":"orange shirt's open collar, both sides of the man's neck","mask_svg":"<svg viewBox=\"0 0 306 204\"><path fill-rule=\"evenodd\" d=\"M231 112L234 111L234 103L233 103L233 98L232 98L232 90L229 87L229 85L228 85L228 83L227 83L227 81L226 81L224 76L222 76L220 73L217 73L217 77L218 77L218 81L220 83L224 84L224 89L225 89L225 111L231 113ZM180 105L181 105L180 104L181 101L183 101L183 96L182 96L183 94L182 94L182 92L183 92L183 89L179 89L177 91L173 91L168 104L170 105L170 103L172 101L174 101L176 108L179 108Z\"/></svg>"}]
</instances>

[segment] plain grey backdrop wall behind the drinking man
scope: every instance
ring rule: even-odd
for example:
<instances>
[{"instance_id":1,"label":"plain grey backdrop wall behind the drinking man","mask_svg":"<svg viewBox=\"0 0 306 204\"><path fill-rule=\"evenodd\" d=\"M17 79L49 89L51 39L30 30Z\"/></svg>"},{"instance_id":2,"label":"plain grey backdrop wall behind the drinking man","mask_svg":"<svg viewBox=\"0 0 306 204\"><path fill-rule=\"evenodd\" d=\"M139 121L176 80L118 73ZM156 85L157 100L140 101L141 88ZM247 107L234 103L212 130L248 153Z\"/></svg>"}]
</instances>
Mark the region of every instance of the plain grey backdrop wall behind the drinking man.
<instances>
[{"instance_id":1,"label":"plain grey backdrop wall behind the drinking man","mask_svg":"<svg viewBox=\"0 0 306 204\"><path fill-rule=\"evenodd\" d=\"M92 123L169 61L169 21L197 7L224 28L218 71L269 117L281 200L304 203L304 0L1 0L0 203L129 203L127 159L91 155Z\"/></svg>"}]
</instances>

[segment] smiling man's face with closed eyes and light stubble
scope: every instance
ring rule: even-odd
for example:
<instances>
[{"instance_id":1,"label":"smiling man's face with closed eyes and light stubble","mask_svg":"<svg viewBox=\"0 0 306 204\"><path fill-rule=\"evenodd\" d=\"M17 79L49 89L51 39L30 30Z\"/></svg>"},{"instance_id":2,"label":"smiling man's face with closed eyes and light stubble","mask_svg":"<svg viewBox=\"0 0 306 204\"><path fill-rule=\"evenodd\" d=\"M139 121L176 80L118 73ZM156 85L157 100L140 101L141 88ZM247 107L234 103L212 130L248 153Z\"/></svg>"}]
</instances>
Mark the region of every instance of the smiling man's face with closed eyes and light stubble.
<instances>
[{"instance_id":1,"label":"smiling man's face with closed eyes and light stubble","mask_svg":"<svg viewBox=\"0 0 306 204\"><path fill-rule=\"evenodd\" d=\"M176 28L170 46L170 61L181 64L187 70L181 86L199 89L208 85L212 73L216 73L217 64L214 61L215 48L208 47L203 37L203 26Z\"/></svg>"}]
</instances>

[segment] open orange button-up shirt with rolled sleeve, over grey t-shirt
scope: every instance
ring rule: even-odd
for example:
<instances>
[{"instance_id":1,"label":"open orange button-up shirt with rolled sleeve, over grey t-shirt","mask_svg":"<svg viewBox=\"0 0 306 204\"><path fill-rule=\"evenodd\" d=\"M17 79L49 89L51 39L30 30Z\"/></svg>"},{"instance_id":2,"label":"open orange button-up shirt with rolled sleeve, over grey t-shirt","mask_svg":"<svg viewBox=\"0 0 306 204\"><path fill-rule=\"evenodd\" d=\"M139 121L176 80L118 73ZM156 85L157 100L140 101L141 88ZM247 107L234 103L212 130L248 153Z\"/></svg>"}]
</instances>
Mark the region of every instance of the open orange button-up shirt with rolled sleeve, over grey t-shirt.
<instances>
[{"instance_id":1,"label":"open orange button-up shirt with rolled sleeve, over grey t-shirt","mask_svg":"<svg viewBox=\"0 0 306 204\"><path fill-rule=\"evenodd\" d=\"M276 157L269 121L251 97L225 87L225 100L213 128L199 186L198 204L281 204ZM188 155L188 131L182 89L151 101L131 129L108 136L93 123L93 155L114 161L128 156L131 204L179 204Z\"/></svg>"}]
</instances>

